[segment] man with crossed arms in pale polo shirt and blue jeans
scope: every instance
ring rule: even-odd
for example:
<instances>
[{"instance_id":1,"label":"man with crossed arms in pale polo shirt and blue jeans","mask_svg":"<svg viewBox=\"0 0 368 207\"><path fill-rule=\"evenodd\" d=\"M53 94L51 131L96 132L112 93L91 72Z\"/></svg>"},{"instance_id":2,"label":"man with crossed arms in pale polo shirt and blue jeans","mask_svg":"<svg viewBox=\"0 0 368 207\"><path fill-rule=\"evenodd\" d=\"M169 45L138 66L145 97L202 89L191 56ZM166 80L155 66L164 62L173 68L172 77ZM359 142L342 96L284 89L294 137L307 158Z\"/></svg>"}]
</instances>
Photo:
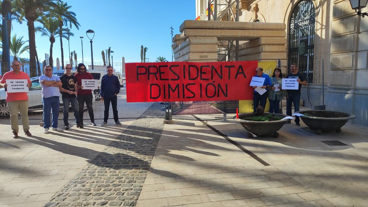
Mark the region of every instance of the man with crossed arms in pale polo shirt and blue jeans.
<instances>
[{"instance_id":1,"label":"man with crossed arms in pale polo shirt and blue jeans","mask_svg":"<svg viewBox=\"0 0 368 207\"><path fill-rule=\"evenodd\" d=\"M52 130L63 131L57 127L57 119L59 118L60 107L60 91L62 86L60 78L52 74L52 67L45 66L44 74L40 76L39 81L42 87L42 103L43 103L43 133L49 133L50 113L52 110Z\"/></svg>"}]
</instances>

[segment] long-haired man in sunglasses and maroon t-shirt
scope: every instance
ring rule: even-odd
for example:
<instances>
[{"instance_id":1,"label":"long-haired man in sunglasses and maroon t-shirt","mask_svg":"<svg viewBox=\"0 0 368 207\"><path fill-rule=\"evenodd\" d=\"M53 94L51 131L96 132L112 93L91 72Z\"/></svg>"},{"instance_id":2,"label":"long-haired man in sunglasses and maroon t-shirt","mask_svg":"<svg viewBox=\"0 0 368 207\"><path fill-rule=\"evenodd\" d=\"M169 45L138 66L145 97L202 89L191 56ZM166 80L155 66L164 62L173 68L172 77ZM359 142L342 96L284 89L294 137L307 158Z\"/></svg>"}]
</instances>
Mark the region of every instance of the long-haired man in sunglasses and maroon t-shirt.
<instances>
[{"instance_id":1,"label":"long-haired man in sunglasses and maroon t-shirt","mask_svg":"<svg viewBox=\"0 0 368 207\"><path fill-rule=\"evenodd\" d=\"M95 116L93 115L92 108L92 90L91 89L83 89L82 79L93 79L91 73L86 71L86 66L83 63L79 63L77 67L77 73L74 75L77 78L77 101L78 101L78 112L81 125L83 125L83 107L84 102L87 105L89 119L91 119L91 125L96 126Z\"/></svg>"}]
</instances>

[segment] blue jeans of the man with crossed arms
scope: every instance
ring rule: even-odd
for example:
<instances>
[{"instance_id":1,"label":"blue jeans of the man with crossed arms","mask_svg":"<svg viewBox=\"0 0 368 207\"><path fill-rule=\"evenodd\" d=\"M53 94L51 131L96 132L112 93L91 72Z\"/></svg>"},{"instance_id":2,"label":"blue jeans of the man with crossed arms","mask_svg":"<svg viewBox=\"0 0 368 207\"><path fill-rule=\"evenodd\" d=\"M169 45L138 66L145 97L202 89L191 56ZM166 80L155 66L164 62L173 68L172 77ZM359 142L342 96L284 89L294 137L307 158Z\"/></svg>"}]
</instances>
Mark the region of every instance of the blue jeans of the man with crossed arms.
<instances>
[{"instance_id":1,"label":"blue jeans of the man with crossed arms","mask_svg":"<svg viewBox=\"0 0 368 207\"><path fill-rule=\"evenodd\" d=\"M58 96L42 98L43 103L43 128L50 128L50 113L52 110L52 127L57 128L59 118L60 100Z\"/></svg>"}]
</instances>

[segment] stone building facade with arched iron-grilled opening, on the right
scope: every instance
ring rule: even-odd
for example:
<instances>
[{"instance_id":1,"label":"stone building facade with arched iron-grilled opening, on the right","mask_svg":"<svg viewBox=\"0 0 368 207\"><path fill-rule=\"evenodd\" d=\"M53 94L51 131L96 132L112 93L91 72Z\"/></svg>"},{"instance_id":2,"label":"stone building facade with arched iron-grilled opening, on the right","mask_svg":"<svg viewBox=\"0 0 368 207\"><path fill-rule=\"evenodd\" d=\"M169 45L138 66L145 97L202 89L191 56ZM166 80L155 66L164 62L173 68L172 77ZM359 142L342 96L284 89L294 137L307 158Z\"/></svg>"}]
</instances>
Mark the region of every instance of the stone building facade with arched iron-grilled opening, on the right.
<instances>
[{"instance_id":1,"label":"stone building facade with arched iron-grilled opening, on the right","mask_svg":"<svg viewBox=\"0 0 368 207\"><path fill-rule=\"evenodd\" d=\"M207 5L196 0L196 17L206 16ZM326 110L353 113L352 123L368 126L368 17L358 16L349 0L240 0L240 7L239 21L286 24L282 65L288 72L296 62L307 77L305 106L324 102Z\"/></svg>"}]
</instances>

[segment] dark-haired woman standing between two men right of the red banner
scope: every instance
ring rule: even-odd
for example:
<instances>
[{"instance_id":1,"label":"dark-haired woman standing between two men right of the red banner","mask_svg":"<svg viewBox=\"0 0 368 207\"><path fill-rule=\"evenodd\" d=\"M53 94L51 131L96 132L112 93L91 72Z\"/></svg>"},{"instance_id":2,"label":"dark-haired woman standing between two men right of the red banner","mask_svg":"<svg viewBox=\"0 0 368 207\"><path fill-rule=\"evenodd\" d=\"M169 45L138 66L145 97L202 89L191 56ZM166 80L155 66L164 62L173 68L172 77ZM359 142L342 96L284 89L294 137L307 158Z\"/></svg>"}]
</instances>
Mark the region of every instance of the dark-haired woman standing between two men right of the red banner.
<instances>
[{"instance_id":1,"label":"dark-haired woman standing between two men right of the red banner","mask_svg":"<svg viewBox=\"0 0 368 207\"><path fill-rule=\"evenodd\" d=\"M275 91L274 85L279 84L279 91ZM283 99L283 94L281 90L282 84L282 72L279 67L273 70L273 75L271 77L270 90L268 92L268 101L270 102L270 113L279 113L280 101Z\"/></svg>"}]
</instances>

